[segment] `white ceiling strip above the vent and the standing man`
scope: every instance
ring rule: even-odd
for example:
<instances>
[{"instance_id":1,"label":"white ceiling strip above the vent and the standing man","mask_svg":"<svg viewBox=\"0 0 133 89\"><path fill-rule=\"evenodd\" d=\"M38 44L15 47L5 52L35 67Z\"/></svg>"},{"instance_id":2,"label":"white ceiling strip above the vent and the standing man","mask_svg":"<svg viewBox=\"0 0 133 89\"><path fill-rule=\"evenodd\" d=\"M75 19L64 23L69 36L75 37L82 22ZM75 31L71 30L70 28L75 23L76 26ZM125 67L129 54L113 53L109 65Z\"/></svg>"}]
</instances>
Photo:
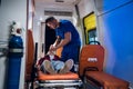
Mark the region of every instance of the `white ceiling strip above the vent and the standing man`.
<instances>
[{"instance_id":1,"label":"white ceiling strip above the vent and the standing man","mask_svg":"<svg viewBox=\"0 0 133 89\"><path fill-rule=\"evenodd\" d=\"M38 10L47 11L72 11L80 0L34 0Z\"/></svg>"}]
</instances>

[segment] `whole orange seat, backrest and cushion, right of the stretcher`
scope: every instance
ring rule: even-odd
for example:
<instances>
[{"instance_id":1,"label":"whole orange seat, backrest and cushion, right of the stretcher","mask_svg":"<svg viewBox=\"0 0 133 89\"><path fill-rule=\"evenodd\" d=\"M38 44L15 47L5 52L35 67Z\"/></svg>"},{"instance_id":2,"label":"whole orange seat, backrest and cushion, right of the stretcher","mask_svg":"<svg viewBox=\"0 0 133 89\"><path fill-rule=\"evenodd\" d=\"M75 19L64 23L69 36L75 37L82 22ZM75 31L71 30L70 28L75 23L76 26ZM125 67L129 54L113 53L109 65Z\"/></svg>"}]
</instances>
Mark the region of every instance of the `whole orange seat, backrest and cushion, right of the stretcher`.
<instances>
[{"instance_id":1,"label":"whole orange seat, backrest and cushion, right of the stretcher","mask_svg":"<svg viewBox=\"0 0 133 89\"><path fill-rule=\"evenodd\" d=\"M81 50L80 77L84 89L129 89L129 82L103 71L104 48L88 44Z\"/></svg>"}]
</instances>

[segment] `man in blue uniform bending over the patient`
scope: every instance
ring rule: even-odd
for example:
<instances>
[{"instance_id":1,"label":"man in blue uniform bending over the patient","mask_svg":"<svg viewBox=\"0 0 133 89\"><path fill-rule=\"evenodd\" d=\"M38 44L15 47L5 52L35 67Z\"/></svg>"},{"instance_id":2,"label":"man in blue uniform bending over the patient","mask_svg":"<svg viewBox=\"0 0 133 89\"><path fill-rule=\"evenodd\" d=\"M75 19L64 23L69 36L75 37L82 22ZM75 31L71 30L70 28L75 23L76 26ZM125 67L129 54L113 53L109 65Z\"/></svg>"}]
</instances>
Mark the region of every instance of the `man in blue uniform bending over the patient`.
<instances>
[{"instance_id":1,"label":"man in blue uniform bending over the patient","mask_svg":"<svg viewBox=\"0 0 133 89\"><path fill-rule=\"evenodd\" d=\"M74 65L78 65L81 40L75 27L68 20L59 22L54 17L49 17L45 20L45 24L54 29L57 33L57 40L50 47L50 50L55 51L63 47L61 60L65 62L68 59L73 59ZM73 67L71 71L74 72L76 70Z\"/></svg>"}]
</instances>

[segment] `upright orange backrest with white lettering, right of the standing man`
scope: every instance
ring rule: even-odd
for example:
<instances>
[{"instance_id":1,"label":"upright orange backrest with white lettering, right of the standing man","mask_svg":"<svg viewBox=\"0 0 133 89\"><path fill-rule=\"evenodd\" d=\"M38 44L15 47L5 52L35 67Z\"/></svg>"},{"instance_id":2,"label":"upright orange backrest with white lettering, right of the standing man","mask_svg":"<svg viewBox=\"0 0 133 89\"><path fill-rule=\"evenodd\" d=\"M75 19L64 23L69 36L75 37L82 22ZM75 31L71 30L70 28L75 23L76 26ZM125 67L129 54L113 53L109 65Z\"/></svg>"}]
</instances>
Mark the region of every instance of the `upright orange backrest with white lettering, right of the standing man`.
<instances>
[{"instance_id":1,"label":"upright orange backrest with white lettering, right of the standing man","mask_svg":"<svg viewBox=\"0 0 133 89\"><path fill-rule=\"evenodd\" d=\"M85 70L103 71L104 49L100 44L86 44L82 47L80 53L80 76L83 77Z\"/></svg>"}]
</instances>

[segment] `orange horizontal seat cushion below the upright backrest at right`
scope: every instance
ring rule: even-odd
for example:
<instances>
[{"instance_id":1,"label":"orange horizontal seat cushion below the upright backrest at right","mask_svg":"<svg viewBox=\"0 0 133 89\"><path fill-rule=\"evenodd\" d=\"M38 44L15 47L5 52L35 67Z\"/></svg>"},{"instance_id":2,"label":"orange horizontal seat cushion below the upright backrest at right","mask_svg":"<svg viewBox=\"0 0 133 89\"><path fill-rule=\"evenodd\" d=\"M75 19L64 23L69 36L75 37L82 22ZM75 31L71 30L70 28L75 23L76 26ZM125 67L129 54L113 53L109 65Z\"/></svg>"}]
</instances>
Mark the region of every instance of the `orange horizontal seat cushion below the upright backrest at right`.
<instances>
[{"instance_id":1,"label":"orange horizontal seat cushion below the upright backrest at right","mask_svg":"<svg viewBox=\"0 0 133 89\"><path fill-rule=\"evenodd\" d=\"M88 80L98 82L103 89L129 89L129 82L103 71L88 71Z\"/></svg>"}]
</instances>

